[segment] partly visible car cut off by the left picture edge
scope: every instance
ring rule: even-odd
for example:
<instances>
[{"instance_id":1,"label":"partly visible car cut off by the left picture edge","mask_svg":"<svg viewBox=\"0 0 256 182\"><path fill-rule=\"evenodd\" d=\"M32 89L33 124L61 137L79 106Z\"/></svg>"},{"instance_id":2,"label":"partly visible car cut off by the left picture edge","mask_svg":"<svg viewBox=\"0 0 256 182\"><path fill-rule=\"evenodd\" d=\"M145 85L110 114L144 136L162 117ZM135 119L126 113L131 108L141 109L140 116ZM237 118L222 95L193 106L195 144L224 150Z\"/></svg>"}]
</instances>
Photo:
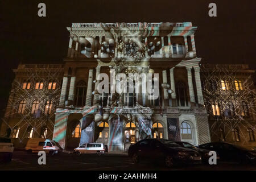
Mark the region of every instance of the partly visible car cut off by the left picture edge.
<instances>
[{"instance_id":1,"label":"partly visible car cut off by the left picture edge","mask_svg":"<svg viewBox=\"0 0 256 182\"><path fill-rule=\"evenodd\" d=\"M0 138L0 161L10 162L13 158L13 149L10 138Z\"/></svg>"}]
</instances>

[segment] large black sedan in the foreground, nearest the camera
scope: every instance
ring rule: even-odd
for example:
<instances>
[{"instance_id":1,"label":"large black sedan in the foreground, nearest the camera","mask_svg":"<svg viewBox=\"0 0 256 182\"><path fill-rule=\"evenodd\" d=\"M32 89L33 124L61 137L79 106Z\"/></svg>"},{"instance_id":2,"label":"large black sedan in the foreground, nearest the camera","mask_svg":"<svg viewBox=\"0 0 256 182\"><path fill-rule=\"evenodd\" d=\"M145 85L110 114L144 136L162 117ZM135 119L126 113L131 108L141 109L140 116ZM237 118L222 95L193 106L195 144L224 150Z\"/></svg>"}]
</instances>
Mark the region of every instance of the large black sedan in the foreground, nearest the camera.
<instances>
[{"instance_id":1,"label":"large black sedan in the foreground, nearest the camera","mask_svg":"<svg viewBox=\"0 0 256 182\"><path fill-rule=\"evenodd\" d=\"M129 147L128 155L133 163L138 163L141 159L152 159L165 162L167 167L174 164L201 163L199 152L165 139L140 140Z\"/></svg>"}]
</instances>

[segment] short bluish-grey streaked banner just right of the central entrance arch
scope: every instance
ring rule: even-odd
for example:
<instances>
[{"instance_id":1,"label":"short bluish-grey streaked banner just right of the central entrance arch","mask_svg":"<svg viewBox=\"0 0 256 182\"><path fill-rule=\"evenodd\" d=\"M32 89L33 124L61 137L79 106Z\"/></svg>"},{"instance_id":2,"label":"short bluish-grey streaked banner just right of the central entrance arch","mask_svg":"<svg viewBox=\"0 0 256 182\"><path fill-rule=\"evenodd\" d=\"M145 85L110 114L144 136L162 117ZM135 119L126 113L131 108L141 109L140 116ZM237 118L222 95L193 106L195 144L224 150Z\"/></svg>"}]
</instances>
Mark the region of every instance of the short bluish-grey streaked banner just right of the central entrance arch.
<instances>
[{"instance_id":1,"label":"short bluish-grey streaked banner just right of the central entrance arch","mask_svg":"<svg viewBox=\"0 0 256 182\"><path fill-rule=\"evenodd\" d=\"M151 121L148 118L138 118L139 120L139 139L151 138Z\"/></svg>"}]
</instances>

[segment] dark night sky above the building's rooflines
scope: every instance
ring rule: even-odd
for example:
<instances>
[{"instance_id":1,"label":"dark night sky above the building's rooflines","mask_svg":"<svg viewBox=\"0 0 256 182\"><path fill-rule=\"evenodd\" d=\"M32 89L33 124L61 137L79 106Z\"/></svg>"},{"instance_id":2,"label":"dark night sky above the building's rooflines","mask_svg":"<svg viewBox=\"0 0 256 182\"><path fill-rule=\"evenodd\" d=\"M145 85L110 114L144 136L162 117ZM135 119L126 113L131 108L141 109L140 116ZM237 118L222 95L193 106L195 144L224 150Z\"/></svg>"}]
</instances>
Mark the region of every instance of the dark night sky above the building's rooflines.
<instances>
[{"instance_id":1,"label":"dark night sky above the building's rooflines","mask_svg":"<svg viewBox=\"0 0 256 182\"><path fill-rule=\"evenodd\" d=\"M38 3L47 7L38 17ZM208 16L210 2L217 17ZM4 109L14 75L23 63L56 63L67 55L72 22L192 22L197 56L208 63L255 64L255 6L251 0L158 1L1 1L0 109Z\"/></svg>"}]
</instances>

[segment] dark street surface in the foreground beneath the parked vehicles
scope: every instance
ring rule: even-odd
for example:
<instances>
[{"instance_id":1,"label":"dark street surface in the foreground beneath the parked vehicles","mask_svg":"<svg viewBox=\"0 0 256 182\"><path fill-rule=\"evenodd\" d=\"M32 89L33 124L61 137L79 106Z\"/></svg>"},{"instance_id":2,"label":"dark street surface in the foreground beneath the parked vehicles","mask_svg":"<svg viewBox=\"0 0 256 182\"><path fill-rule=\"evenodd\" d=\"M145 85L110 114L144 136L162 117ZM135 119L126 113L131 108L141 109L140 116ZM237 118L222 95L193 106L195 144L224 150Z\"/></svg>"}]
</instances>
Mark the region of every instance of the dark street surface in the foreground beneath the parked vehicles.
<instances>
[{"instance_id":1,"label":"dark street surface in the foreground beneath the parked vehicles","mask_svg":"<svg viewBox=\"0 0 256 182\"><path fill-rule=\"evenodd\" d=\"M47 155L46 165L38 164L39 156L36 154L27 154L23 151L15 151L13 160L10 163L1 163L0 170L18 170L18 171L55 171L55 170L72 170L72 171L222 171L222 170L243 170L255 171L256 166L249 164L236 164L218 162L217 165L195 164L191 166L176 166L166 168L163 163L152 163L142 161L139 164L133 164L129 156L125 153L106 153L100 156L96 154L75 155L62 153L57 155Z\"/></svg>"}]
</instances>

